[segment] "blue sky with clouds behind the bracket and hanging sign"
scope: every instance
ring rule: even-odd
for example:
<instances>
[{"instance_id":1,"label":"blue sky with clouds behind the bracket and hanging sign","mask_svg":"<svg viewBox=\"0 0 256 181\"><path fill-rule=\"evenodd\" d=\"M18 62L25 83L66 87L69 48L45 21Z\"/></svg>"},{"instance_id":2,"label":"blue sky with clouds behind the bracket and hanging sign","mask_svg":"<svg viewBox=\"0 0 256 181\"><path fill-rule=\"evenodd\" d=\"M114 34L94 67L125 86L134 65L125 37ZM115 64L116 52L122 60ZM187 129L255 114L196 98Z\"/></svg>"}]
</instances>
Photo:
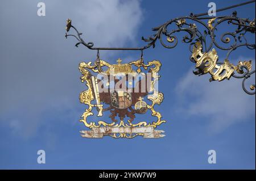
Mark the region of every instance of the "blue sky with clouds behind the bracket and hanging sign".
<instances>
[{"instance_id":1,"label":"blue sky with clouds behind the bracket and hanging sign","mask_svg":"<svg viewBox=\"0 0 256 181\"><path fill-rule=\"evenodd\" d=\"M239 79L209 82L208 75L194 75L188 45L181 42L174 49L157 43L144 51L145 61L163 65L164 101L156 110L167 120L159 127L166 137L86 139L79 133L86 129L79 122L85 108L79 93L86 87L77 68L94 61L96 52L65 39L65 20L71 18L84 40L96 46L141 46L141 36L152 35L152 27L207 12L210 1L42 1L44 17L36 14L38 2L1 1L0 169L255 169L255 96L243 92ZM242 1L214 2L218 9ZM236 10L241 18L255 18L255 4ZM223 60L226 52L217 52ZM112 63L139 56L101 52ZM255 51L237 49L230 58L234 64L255 62ZM46 164L37 163L40 149ZM216 164L208 163L212 149Z\"/></svg>"}]
</instances>

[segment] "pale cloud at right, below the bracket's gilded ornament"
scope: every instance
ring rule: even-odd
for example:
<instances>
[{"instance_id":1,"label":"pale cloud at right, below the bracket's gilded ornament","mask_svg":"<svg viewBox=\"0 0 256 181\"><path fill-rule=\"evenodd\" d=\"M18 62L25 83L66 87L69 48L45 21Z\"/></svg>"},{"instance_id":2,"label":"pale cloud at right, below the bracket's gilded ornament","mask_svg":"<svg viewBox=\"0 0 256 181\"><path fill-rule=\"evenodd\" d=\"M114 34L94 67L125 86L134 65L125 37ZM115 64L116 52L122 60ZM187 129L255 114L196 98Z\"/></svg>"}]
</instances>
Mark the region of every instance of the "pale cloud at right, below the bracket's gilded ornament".
<instances>
[{"instance_id":1,"label":"pale cloud at right, below the bracket's gilded ornament","mask_svg":"<svg viewBox=\"0 0 256 181\"><path fill-rule=\"evenodd\" d=\"M209 82L209 75L200 77L190 69L176 85L178 112L188 118L208 121L211 133L224 131L230 125L255 117L255 95L242 90L242 79L230 78ZM255 77L251 77L255 81ZM253 119L255 120L255 118Z\"/></svg>"}]
</instances>

